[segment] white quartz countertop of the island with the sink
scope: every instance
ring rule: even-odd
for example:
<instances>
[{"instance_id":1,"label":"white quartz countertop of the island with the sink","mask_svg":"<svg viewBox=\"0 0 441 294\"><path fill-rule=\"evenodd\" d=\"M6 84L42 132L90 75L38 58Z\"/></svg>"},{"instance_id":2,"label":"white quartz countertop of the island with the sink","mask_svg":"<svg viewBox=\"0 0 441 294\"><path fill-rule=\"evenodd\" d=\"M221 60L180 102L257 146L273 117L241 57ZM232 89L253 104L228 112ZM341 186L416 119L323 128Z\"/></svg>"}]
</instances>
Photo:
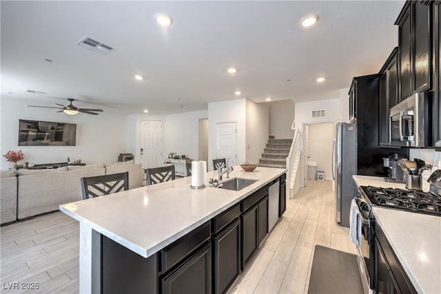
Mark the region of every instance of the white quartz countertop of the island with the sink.
<instances>
[{"instance_id":1,"label":"white quartz countertop of the island with the sink","mask_svg":"<svg viewBox=\"0 0 441 294\"><path fill-rule=\"evenodd\" d=\"M213 187L195 190L190 188L192 177L189 176L63 204L60 210L148 258L286 171L258 167L246 172L235 166L230 178L258 179L258 182L240 191ZM209 171L209 178L217 178L217 171ZM225 175L223 178L225 180Z\"/></svg>"}]
</instances>

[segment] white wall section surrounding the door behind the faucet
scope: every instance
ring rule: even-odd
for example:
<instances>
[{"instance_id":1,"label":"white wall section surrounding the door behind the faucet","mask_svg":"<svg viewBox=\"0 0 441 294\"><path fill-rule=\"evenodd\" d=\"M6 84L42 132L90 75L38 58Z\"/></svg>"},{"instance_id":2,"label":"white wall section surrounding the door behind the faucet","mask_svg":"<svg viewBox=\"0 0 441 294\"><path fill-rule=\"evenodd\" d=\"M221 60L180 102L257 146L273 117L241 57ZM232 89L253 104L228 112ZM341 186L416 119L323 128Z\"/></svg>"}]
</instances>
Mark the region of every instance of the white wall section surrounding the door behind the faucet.
<instances>
[{"instance_id":1,"label":"white wall section surrounding the door behind the faucet","mask_svg":"<svg viewBox=\"0 0 441 294\"><path fill-rule=\"evenodd\" d=\"M213 170L213 159L216 158L216 124L236 122L236 164L245 162L246 149L246 100L245 98L208 103L208 170Z\"/></svg>"}]
</instances>

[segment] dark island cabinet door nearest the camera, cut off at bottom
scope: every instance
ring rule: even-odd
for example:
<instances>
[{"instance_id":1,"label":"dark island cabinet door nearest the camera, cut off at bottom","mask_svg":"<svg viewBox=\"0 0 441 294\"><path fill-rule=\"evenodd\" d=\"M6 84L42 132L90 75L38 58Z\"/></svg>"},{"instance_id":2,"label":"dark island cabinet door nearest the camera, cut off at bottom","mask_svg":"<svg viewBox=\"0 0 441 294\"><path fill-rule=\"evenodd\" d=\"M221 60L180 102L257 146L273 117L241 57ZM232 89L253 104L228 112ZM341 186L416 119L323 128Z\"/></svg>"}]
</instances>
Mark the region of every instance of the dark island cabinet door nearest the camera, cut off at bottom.
<instances>
[{"instance_id":1,"label":"dark island cabinet door nearest the camera, cut off at bottom","mask_svg":"<svg viewBox=\"0 0 441 294\"><path fill-rule=\"evenodd\" d=\"M175 271L161 278L161 293L211 293L212 246L207 244Z\"/></svg>"}]
</instances>

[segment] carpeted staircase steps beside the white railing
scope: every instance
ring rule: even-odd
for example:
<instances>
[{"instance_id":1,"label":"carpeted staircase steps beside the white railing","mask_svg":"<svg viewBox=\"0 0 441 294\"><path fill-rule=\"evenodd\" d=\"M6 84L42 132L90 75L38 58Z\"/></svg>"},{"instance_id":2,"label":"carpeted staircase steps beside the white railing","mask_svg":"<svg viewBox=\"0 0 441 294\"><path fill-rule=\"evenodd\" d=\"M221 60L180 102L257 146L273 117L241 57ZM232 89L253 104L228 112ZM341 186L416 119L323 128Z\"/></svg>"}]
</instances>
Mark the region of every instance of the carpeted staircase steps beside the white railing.
<instances>
[{"instance_id":1,"label":"carpeted staircase steps beside the white railing","mask_svg":"<svg viewBox=\"0 0 441 294\"><path fill-rule=\"evenodd\" d=\"M292 139L275 139L269 136L267 147L264 149L259 167L286 168L287 156L291 148Z\"/></svg>"}]
</instances>

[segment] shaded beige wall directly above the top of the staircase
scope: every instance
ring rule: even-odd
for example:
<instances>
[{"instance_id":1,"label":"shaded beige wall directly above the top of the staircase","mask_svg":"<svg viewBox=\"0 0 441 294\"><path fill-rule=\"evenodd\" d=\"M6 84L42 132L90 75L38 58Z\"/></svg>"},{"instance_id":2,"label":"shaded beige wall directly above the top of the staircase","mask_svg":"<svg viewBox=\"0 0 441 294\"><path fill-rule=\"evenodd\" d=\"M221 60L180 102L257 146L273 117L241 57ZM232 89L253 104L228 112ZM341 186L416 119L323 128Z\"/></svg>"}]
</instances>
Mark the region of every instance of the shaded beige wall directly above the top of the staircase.
<instances>
[{"instance_id":1,"label":"shaded beige wall directly above the top of the staircase","mask_svg":"<svg viewBox=\"0 0 441 294\"><path fill-rule=\"evenodd\" d=\"M294 120L294 102L291 100L271 101L269 105L269 136L276 139L292 139L291 129Z\"/></svg>"}]
</instances>

